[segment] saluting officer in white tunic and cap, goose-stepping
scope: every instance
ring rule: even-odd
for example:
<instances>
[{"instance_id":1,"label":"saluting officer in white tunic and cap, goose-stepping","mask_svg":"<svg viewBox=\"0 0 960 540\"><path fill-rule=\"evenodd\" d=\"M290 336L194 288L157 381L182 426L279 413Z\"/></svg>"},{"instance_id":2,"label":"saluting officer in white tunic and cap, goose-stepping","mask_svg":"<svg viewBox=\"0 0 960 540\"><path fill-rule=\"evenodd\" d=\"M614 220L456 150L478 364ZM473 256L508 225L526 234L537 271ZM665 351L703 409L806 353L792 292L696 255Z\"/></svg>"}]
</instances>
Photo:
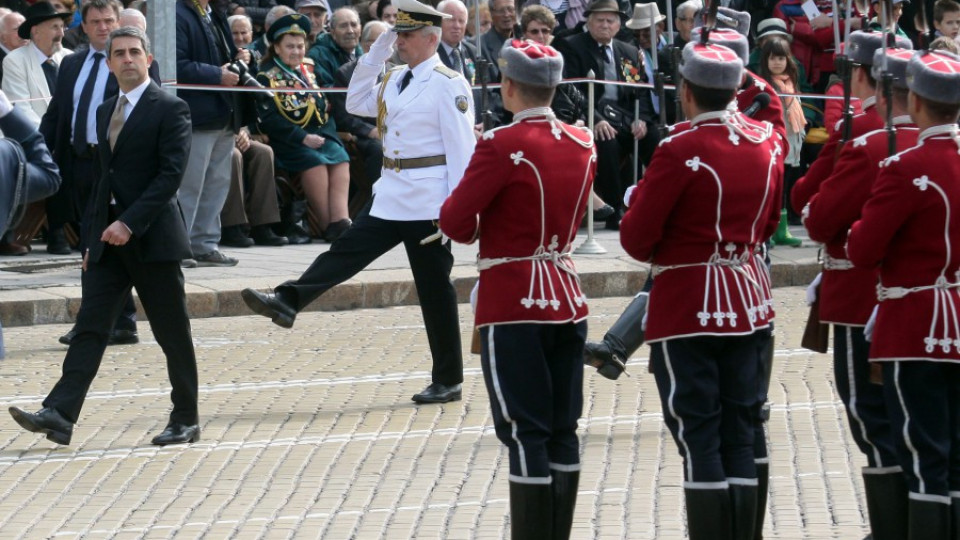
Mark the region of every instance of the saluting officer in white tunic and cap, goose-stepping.
<instances>
[{"instance_id":1,"label":"saluting officer in white tunic and cap, goose-stepping","mask_svg":"<svg viewBox=\"0 0 960 540\"><path fill-rule=\"evenodd\" d=\"M461 398L463 359L453 255L437 228L440 205L467 168L476 137L466 79L440 62L440 23L449 17L417 0L395 0L397 23L361 56L350 79L347 111L375 117L383 141L383 171L366 209L299 279L271 294L245 289L250 308L290 328L297 312L403 244L410 259L433 359L432 382L417 403ZM387 60L401 61L378 81Z\"/></svg>"}]
</instances>

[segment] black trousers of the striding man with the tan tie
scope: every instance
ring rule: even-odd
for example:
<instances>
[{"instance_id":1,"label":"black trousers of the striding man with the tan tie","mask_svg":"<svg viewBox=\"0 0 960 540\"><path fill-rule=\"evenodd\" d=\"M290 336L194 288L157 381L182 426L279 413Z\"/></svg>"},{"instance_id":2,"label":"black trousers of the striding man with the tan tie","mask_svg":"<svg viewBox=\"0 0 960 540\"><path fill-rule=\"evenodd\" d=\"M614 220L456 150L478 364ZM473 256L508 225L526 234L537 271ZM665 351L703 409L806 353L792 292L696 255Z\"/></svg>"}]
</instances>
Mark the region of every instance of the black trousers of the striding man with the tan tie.
<instances>
[{"instance_id":1,"label":"black trousers of the striding man with the tan tie","mask_svg":"<svg viewBox=\"0 0 960 540\"><path fill-rule=\"evenodd\" d=\"M135 242L136 240L134 240ZM97 375L113 321L130 288L136 287L150 319L153 335L167 357L173 391L171 422L196 424L197 358L187 315L180 261L140 262L133 245L106 246L99 261L85 272L83 297L77 314L77 335L63 360L63 373L43 401L76 423Z\"/></svg>"}]
</instances>

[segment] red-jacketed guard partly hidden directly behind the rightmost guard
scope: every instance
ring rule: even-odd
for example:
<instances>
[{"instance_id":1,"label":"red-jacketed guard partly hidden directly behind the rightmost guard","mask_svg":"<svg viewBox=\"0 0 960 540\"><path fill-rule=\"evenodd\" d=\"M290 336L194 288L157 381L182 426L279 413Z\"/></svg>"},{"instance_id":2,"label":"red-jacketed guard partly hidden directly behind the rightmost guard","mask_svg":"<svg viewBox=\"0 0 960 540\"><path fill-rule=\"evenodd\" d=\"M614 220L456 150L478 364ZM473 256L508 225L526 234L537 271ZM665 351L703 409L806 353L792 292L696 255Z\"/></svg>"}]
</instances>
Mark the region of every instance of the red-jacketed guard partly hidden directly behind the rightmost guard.
<instances>
[{"instance_id":1,"label":"red-jacketed guard partly hidden directly behind the rightmost guard","mask_svg":"<svg viewBox=\"0 0 960 540\"><path fill-rule=\"evenodd\" d=\"M909 49L877 49L873 78L882 77L886 63L893 92L887 103L881 86L876 89L876 108L892 107L896 151L917 143L919 131L907 112L907 64ZM880 162L889 156L888 132L876 129L844 145L833 170L810 199L804 225L810 238L824 244L820 281L820 320L833 324L834 376L850 422L850 433L867 457L863 487L873 538L906 538L907 485L897 459L890 413L883 390L870 380L864 328L877 304L876 268L854 268L846 259L847 231L860 219L860 212L880 172Z\"/></svg>"}]
</instances>

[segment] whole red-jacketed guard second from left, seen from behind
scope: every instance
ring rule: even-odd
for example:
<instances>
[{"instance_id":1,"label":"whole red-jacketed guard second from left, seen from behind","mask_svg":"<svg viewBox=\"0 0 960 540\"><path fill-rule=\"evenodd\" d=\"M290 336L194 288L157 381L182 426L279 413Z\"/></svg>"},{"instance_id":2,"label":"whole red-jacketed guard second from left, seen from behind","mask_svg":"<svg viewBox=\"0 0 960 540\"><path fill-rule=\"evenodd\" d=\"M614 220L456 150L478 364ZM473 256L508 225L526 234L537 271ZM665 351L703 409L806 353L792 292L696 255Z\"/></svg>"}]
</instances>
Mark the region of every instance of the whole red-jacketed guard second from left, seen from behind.
<instances>
[{"instance_id":1,"label":"whole red-jacketed guard second from left, seen from behind","mask_svg":"<svg viewBox=\"0 0 960 540\"><path fill-rule=\"evenodd\" d=\"M689 122L664 139L630 195L620 243L652 263L646 340L664 421L683 456L692 540L753 538L754 433L773 302L761 245L780 217L773 127L728 108L743 78L732 50L688 43Z\"/></svg>"}]
</instances>

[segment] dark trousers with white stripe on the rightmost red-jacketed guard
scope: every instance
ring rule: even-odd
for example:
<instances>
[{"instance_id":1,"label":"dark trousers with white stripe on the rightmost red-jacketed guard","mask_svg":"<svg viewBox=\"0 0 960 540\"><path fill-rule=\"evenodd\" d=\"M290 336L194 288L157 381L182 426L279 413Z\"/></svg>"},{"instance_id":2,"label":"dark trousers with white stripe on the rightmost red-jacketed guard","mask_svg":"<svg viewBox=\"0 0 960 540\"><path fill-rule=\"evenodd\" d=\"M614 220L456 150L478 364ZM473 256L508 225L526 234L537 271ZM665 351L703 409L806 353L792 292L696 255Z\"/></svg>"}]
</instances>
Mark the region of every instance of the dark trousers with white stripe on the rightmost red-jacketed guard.
<instances>
[{"instance_id":1,"label":"dark trousers with white stripe on the rightmost red-jacketed guard","mask_svg":"<svg viewBox=\"0 0 960 540\"><path fill-rule=\"evenodd\" d=\"M960 497L960 364L883 362L886 398L910 498Z\"/></svg>"}]
</instances>

